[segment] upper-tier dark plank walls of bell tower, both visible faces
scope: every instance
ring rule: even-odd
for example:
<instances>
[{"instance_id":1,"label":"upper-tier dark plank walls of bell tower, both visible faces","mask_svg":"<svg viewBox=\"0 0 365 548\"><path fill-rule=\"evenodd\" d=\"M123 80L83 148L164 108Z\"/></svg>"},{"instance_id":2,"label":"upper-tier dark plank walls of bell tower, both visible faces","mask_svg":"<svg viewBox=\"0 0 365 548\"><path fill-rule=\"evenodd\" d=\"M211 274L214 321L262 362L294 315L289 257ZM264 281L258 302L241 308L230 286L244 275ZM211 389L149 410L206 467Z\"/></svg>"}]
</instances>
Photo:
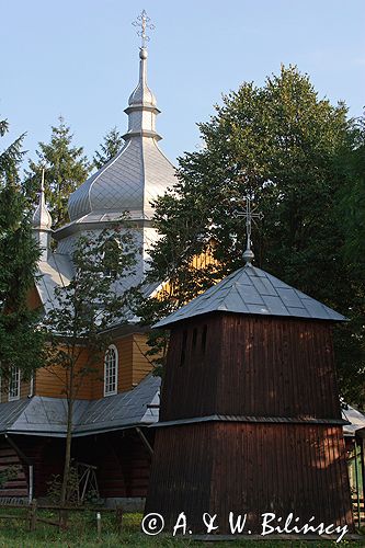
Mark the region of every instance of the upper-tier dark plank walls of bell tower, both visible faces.
<instances>
[{"instance_id":1,"label":"upper-tier dark plank walls of bell tower, both visible faces","mask_svg":"<svg viewBox=\"0 0 365 548\"><path fill-rule=\"evenodd\" d=\"M328 323L209 315L172 330L160 416L161 421L214 413L341 419L337 395Z\"/></svg>"}]
</instances>

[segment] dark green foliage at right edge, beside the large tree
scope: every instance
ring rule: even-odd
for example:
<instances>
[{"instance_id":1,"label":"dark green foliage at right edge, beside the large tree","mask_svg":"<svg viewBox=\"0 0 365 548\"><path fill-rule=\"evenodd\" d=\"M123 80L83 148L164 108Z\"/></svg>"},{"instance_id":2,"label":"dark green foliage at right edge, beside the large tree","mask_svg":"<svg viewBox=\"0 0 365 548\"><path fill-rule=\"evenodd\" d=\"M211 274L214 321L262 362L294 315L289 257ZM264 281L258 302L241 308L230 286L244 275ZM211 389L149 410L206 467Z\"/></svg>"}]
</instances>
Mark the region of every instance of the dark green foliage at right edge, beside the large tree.
<instances>
[{"instance_id":1,"label":"dark green foliage at right edge, beside the large tree","mask_svg":"<svg viewBox=\"0 0 365 548\"><path fill-rule=\"evenodd\" d=\"M365 116L354 121L350 139L352 147L338 159L343 185L337 208L342 232L339 254L347 266L343 282L349 284L350 321L338 329L335 342L341 386L349 401L365 408Z\"/></svg>"}]
</instances>

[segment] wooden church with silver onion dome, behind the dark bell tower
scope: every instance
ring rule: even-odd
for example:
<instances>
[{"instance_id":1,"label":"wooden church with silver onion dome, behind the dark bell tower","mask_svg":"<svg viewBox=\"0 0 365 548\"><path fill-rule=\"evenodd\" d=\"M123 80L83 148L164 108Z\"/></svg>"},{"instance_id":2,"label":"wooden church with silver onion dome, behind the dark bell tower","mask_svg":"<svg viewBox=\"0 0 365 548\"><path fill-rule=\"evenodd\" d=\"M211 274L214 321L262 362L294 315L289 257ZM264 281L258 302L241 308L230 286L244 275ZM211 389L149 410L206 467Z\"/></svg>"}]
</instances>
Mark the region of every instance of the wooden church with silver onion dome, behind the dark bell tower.
<instances>
[{"instance_id":1,"label":"wooden church with silver onion dome, behind the dark bell tower","mask_svg":"<svg viewBox=\"0 0 365 548\"><path fill-rule=\"evenodd\" d=\"M145 33L145 12L138 24ZM126 212L130 217L127 229L134 233L139 251L136 272L115 290L123 293L145 278L149 248L158 238L150 202L174 184L175 173L158 145L161 137L156 132L156 117L160 111L147 84L147 56L142 46L138 83L125 110L125 144L71 194L70 222L52 230L52 218L41 193L33 226L42 256L28 296L32 309L47 313L57 306L55 288L67 285L73 275L71 254L77 238L90 231L100 233ZM56 241L54 251L52 240ZM146 297L153 295L157 286L145 286ZM133 507L141 507L153 442L153 432L147 427L158 419L159 379L148 375L152 366L145 356L146 329L138 327L135 318L128 324L114 326L111 333L111 346L98 370L79 381L72 458L96 470L101 499L110 503L129 501ZM11 467L16 473L0 484L0 498L44 496L52 477L62 472L67 414L61 377L56 368L39 369L30 383L24 383L14 368L10 386L2 384L0 472Z\"/></svg>"}]
</instances>

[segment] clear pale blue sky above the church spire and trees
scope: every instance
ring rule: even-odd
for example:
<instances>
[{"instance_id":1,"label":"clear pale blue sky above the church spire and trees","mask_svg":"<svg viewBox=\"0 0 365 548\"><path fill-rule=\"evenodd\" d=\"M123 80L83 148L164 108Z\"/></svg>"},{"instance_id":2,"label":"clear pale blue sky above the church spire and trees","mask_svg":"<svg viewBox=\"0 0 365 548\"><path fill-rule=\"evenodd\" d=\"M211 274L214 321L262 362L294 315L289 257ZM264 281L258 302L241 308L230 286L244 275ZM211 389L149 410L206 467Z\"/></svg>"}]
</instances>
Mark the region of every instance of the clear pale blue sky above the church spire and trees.
<instances>
[{"instance_id":1,"label":"clear pale blue sky above the church spire and trees","mask_svg":"<svg viewBox=\"0 0 365 548\"><path fill-rule=\"evenodd\" d=\"M364 0L0 0L0 118L26 132L27 158L62 115L89 158L137 83L146 9L148 84L162 111L157 130L172 162L199 147L198 122L243 81L262 85L281 64L307 72L320 98L344 100L360 116L365 99Z\"/></svg>"}]
</instances>

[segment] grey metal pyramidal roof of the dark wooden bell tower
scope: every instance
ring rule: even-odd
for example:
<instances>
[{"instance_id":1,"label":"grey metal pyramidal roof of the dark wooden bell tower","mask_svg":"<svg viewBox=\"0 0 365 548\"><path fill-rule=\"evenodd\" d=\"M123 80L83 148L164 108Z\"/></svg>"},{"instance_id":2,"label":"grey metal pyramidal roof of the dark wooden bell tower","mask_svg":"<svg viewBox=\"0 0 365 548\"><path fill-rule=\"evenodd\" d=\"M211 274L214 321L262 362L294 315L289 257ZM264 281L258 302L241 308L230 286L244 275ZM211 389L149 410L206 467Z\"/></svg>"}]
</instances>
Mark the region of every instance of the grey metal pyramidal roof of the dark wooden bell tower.
<instances>
[{"instance_id":1,"label":"grey metal pyramidal roof of the dark wooden bell tower","mask_svg":"<svg viewBox=\"0 0 365 548\"><path fill-rule=\"evenodd\" d=\"M176 321L214 311L345 320L342 315L267 272L252 264L246 264L187 305L160 320L153 328L166 328Z\"/></svg>"}]
</instances>

